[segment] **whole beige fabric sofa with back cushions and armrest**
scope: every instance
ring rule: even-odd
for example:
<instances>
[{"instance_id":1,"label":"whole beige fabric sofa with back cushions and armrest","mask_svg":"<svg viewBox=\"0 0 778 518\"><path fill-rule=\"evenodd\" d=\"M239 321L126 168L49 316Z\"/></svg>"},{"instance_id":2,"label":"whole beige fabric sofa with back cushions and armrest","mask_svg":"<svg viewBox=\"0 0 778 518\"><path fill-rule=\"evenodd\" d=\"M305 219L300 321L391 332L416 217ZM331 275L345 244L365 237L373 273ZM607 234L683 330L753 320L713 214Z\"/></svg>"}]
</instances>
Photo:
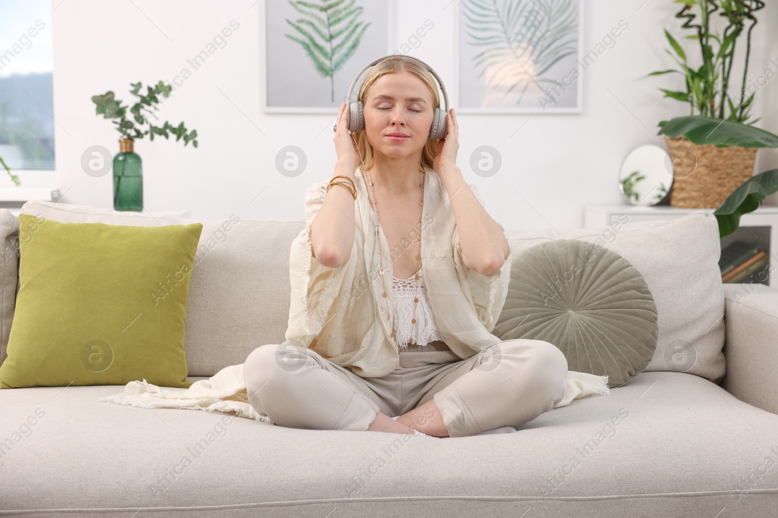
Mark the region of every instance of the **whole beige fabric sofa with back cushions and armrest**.
<instances>
[{"instance_id":1,"label":"whole beige fabric sofa with back cushions and armrest","mask_svg":"<svg viewBox=\"0 0 778 518\"><path fill-rule=\"evenodd\" d=\"M23 212L193 221L40 201ZM303 226L240 214L204 223L189 379L282 341L289 245ZM18 220L0 210L0 228L13 250ZM578 238L632 262L659 314L646 370L517 433L442 440L98 401L119 385L0 391L0 516L778 516L778 289L722 286L715 219L507 234L514 254ZM16 256L3 257L0 360L17 275Z\"/></svg>"}]
</instances>

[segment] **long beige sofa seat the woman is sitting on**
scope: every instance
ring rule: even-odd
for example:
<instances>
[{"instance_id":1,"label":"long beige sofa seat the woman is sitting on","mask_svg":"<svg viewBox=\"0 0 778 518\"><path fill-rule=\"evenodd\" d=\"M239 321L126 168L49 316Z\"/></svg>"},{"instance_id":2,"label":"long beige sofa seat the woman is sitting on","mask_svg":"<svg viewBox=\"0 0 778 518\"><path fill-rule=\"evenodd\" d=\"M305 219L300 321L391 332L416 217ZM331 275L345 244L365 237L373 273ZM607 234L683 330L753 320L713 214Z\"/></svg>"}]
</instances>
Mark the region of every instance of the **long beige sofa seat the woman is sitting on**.
<instances>
[{"instance_id":1,"label":"long beige sofa seat the woman is sitting on","mask_svg":"<svg viewBox=\"0 0 778 518\"><path fill-rule=\"evenodd\" d=\"M405 442L98 401L117 389L4 391L0 514L770 516L778 498L778 415L693 374L644 371L517 433Z\"/></svg>"}]
</instances>

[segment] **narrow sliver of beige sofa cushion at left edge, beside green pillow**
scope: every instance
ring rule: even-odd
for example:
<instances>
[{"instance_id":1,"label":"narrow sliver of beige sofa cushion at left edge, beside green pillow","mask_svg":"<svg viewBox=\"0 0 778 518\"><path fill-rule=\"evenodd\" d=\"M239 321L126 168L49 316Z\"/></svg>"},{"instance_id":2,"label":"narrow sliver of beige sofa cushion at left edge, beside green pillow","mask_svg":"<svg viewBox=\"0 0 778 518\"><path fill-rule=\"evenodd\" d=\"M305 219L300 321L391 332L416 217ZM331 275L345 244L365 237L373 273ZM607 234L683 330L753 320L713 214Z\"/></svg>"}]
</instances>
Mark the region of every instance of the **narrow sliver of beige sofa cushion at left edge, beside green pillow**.
<instances>
[{"instance_id":1,"label":"narrow sliver of beige sofa cushion at left edge, beside green pillow","mask_svg":"<svg viewBox=\"0 0 778 518\"><path fill-rule=\"evenodd\" d=\"M0 209L0 366L8 356L8 337L19 287L19 218L8 209Z\"/></svg>"}]
</instances>

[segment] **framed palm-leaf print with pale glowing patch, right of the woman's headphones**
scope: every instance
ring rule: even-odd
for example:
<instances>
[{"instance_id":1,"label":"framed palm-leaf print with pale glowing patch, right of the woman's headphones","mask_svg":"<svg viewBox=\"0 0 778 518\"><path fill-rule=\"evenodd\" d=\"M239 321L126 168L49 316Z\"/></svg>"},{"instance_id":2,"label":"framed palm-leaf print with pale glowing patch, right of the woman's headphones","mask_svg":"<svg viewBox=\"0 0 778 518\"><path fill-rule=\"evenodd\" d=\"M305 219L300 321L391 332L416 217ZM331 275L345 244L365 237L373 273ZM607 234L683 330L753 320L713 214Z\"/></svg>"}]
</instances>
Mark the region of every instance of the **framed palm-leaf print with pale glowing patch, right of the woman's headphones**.
<instances>
[{"instance_id":1,"label":"framed palm-leaf print with pale glowing patch, right of the woman's headphones","mask_svg":"<svg viewBox=\"0 0 778 518\"><path fill-rule=\"evenodd\" d=\"M581 113L584 0L457 0L460 113Z\"/></svg>"}]
</instances>

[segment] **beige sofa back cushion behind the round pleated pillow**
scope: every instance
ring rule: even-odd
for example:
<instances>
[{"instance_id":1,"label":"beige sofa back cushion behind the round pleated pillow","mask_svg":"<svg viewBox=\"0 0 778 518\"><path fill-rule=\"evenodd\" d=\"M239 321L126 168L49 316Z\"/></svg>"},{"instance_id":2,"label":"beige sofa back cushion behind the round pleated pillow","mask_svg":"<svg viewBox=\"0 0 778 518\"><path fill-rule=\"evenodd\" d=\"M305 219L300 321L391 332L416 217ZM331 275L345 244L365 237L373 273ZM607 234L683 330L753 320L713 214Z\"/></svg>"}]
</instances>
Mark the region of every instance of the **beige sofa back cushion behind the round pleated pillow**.
<instances>
[{"instance_id":1,"label":"beige sofa back cushion behind the round pleated pillow","mask_svg":"<svg viewBox=\"0 0 778 518\"><path fill-rule=\"evenodd\" d=\"M693 212L663 221L577 230L508 230L513 256L543 242L580 239L613 250L643 276L657 305L657 349L647 371L673 370L720 382L724 377L724 289L716 217Z\"/></svg>"}]
</instances>

